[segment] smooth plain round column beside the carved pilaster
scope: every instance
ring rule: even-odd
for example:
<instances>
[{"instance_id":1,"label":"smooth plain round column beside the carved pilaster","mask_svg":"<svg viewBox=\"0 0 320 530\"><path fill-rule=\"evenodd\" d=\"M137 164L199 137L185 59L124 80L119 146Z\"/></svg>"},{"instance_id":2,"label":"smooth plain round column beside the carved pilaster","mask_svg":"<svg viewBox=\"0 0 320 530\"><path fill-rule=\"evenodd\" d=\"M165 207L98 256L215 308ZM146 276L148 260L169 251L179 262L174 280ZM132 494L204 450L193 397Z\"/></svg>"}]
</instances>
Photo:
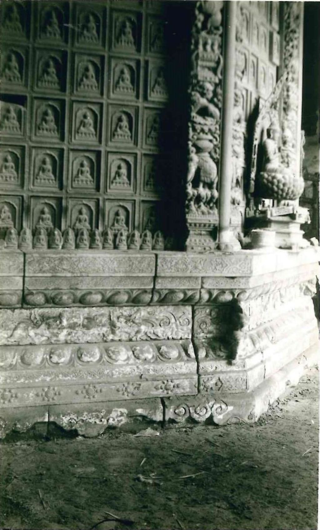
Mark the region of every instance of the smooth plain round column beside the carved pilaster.
<instances>
[{"instance_id":1,"label":"smooth plain round column beside the carved pilaster","mask_svg":"<svg viewBox=\"0 0 320 530\"><path fill-rule=\"evenodd\" d=\"M241 248L230 232L233 137L233 106L236 56L236 2L226 2L226 34L224 53L224 82L221 123L220 182L219 182L219 249Z\"/></svg>"}]
</instances>

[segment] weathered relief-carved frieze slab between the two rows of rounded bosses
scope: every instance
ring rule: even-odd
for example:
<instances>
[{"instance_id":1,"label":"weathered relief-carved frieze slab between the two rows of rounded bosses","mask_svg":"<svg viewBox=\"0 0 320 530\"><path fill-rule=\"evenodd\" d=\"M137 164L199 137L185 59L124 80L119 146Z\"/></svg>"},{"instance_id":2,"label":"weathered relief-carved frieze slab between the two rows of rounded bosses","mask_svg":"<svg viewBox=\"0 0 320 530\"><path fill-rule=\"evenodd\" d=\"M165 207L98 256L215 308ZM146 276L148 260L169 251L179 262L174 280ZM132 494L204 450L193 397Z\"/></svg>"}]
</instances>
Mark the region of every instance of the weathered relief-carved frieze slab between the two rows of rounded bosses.
<instances>
[{"instance_id":1,"label":"weathered relief-carved frieze slab between the two rows of rounded bosses","mask_svg":"<svg viewBox=\"0 0 320 530\"><path fill-rule=\"evenodd\" d=\"M3 310L3 345L191 338L191 307Z\"/></svg>"}]
</instances>

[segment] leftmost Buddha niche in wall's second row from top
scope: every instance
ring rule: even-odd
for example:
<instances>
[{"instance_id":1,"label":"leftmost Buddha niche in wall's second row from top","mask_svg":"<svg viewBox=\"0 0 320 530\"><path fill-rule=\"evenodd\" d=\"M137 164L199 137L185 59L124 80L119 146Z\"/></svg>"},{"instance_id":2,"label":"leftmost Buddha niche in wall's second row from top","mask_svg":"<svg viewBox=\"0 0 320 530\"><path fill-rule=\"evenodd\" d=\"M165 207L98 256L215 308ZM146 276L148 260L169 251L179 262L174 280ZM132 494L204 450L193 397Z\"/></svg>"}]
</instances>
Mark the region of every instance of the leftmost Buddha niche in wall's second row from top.
<instances>
[{"instance_id":1,"label":"leftmost Buddha niche in wall's second row from top","mask_svg":"<svg viewBox=\"0 0 320 530\"><path fill-rule=\"evenodd\" d=\"M2 84L12 90L21 89L28 84L28 50L21 46L3 47L1 50Z\"/></svg>"}]
</instances>

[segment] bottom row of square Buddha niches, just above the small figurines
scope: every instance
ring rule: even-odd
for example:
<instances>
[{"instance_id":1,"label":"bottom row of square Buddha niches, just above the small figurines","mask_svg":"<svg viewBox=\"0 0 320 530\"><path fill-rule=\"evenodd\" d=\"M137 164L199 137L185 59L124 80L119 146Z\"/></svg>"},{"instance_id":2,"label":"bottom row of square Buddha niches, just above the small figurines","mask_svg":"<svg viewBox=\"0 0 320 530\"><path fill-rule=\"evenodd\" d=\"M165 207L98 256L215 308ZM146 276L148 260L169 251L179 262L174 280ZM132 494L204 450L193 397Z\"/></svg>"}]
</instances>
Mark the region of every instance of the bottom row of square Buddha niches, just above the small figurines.
<instances>
[{"instance_id":1,"label":"bottom row of square Buddha niches, just above the small figurines","mask_svg":"<svg viewBox=\"0 0 320 530\"><path fill-rule=\"evenodd\" d=\"M158 201L130 199L79 199L72 198L63 202L58 197L30 197L28 219L22 221L23 198L5 196L0 199L0 237L4 237L8 228L20 232L28 226L32 232L45 228L72 228L74 231L85 228L110 228L114 233L122 229L131 232L136 227L140 231L151 232L159 229L161 204ZM26 205L24 205L24 211Z\"/></svg>"}]
</instances>

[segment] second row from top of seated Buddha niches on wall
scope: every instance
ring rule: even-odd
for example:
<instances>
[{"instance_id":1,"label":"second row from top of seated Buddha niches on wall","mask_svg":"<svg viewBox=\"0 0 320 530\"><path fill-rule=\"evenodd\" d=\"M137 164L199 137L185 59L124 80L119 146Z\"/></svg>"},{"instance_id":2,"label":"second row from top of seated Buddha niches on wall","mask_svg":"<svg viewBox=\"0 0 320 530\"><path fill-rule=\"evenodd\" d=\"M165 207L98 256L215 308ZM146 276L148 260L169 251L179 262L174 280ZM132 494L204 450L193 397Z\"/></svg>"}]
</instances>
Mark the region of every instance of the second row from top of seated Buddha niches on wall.
<instances>
[{"instance_id":1,"label":"second row from top of seated Buddha niches on wall","mask_svg":"<svg viewBox=\"0 0 320 530\"><path fill-rule=\"evenodd\" d=\"M75 52L69 72L67 54L66 50L41 48L30 57L26 47L4 45L0 70L4 89L21 91L30 87L45 94L72 90L84 98L106 94L122 100L138 100L140 95L148 101L167 99L168 76L162 60L146 59L141 64L140 59L110 56L105 60L103 55ZM74 80L72 86L67 86L67 79Z\"/></svg>"}]
</instances>

